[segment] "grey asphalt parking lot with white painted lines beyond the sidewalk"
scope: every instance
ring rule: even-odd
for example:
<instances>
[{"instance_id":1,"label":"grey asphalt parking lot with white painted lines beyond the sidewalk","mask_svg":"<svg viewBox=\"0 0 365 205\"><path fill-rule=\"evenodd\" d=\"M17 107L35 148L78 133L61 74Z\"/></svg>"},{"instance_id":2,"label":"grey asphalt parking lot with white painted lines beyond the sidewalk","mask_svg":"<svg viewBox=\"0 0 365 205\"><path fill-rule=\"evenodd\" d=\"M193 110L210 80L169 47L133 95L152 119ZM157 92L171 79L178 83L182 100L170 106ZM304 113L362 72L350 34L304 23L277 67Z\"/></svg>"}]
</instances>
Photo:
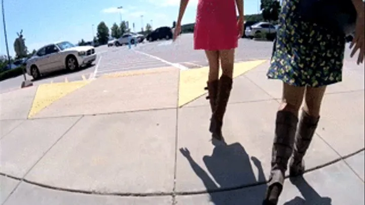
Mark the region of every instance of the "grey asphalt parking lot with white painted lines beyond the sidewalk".
<instances>
[{"instance_id":1,"label":"grey asphalt parking lot with white painted lines beyond the sidewalk","mask_svg":"<svg viewBox=\"0 0 365 205\"><path fill-rule=\"evenodd\" d=\"M103 74L173 66L179 69L193 69L207 66L203 51L193 49L193 34L182 34L176 40L161 40L157 42L143 42L136 47L97 47L98 57L90 67L84 67L75 72L61 71L52 73L40 80L33 81L34 85L88 80ZM272 42L259 42L241 38L236 50L236 61L252 59L268 59L272 51ZM32 79L31 76L27 76ZM24 77L18 76L0 82L0 92L19 89Z\"/></svg>"}]
</instances>

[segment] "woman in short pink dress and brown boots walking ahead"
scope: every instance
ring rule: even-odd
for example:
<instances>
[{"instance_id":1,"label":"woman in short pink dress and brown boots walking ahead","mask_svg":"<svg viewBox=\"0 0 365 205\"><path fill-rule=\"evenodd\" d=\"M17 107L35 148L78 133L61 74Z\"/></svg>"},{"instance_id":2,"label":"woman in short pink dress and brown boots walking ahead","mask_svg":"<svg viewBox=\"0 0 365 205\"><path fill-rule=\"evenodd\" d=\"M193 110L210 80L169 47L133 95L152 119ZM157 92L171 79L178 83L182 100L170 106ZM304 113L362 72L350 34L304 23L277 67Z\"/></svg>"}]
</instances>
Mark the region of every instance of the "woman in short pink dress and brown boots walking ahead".
<instances>
[{"instance_id":1,"label":"woman in short pink dress and brown boots walking ahead","mask_svg":"<svg viewBox=\"0 0 365 205\"><path fill-rule=\"evenodd\" d=\"M189 0L180 1L174 40L181 31L181 19ZM239 13L237 19L236 5ZM209 131L222 140L223 116L232 90L234 52L243 32L243 0L199 0L194 28L194 49L204 50L209 62L207 81L212 116ZM220 61L222 76L218 78Z\"/></svg>"}]
</instances>

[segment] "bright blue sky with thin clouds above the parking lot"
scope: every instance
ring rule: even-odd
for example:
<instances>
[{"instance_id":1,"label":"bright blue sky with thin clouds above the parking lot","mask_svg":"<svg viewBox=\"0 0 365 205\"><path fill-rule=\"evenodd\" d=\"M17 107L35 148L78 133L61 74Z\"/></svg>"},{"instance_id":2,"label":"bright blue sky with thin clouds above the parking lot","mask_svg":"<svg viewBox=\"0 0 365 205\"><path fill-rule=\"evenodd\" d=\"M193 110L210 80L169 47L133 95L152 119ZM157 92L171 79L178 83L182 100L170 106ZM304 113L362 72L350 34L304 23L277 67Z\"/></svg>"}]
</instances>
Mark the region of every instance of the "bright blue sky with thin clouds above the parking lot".
<instances>
[{"instance_id":1,"label":"bright blue sky with thin clouds above the parking lot","mask_svg":"<svg viewBox=\"0 0 365 205\"><path fill-rule=\"evenodd\" d=\"M227 0L221 0L227 1ZM260 0L245 0L245 14L258 12ZM45 44L68 40L77 43L84 38L91 40L96 27L104 21L110 28L122 19L135 24L135 31L143 24L151 23L153 28L172 26L178 13L179 0L4 0L9 53L14 56L13 43L17 32L23 29L25 44L29 51ZM190 0L182 23L195 22L198 0ZM122 6L122 10L116 9ZM120 12L120 13L119 13ZM3 17L0 18L0 54L6 54ZM94 29L92 25L94 24Z\"/></svg>"}]
</instances>

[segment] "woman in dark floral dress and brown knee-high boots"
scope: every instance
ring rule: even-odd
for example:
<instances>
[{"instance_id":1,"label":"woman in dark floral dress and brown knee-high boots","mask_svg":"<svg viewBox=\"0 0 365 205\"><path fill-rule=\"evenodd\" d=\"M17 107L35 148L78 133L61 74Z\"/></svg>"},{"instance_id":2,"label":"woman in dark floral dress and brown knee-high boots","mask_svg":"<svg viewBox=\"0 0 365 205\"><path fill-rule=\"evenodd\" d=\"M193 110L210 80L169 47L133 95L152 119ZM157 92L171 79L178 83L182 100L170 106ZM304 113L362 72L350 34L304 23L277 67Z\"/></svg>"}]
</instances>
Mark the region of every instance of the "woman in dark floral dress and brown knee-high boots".
<instances>
[{"instance_id":1,"label":"woman in dark floral dress and brown knee-high boots","mask_svg":"<svg viewBox=\"0 0 365 205\"><path fill-rule=\"evenodd\" d=\"M283 81L283 95L276 113L271 173L263 204L277 204L289 159L290 176L304 172L303 157L318 124L326 86L342 80L345 35L305 22L297 9L300 1L305 0L282 1L275 50L267 73L268 78ZM363 62L365 50L364 3L351 1L357 13L351 57L360 50L359 64ZM304 107L298 119L303 99Z\"/></svg>"}]
</instances>

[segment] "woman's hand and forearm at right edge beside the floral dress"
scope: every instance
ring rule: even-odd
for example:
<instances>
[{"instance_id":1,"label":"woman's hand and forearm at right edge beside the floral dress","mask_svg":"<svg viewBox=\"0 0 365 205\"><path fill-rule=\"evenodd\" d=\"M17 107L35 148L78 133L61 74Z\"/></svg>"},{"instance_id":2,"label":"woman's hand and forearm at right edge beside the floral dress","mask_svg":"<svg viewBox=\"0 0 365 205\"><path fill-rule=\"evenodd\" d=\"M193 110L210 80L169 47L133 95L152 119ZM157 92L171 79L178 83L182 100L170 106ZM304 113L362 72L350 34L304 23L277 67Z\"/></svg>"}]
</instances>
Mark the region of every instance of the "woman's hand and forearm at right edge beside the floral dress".
<instances>
[{"instance_id":1,"label":"woman's hand and forearm at right edge beside the floral dress","mask_svg":"<svg viewBox=\"0 0 365 205\"><path fill-rule=\"evenodd\" d=\"M356 28L355 28L355 36L352 39L352 43L350 45L350 49L353 47L351 52L351 58L355 55L357 50L360 50L358 58L357 58L357 64L363 63L363 60L365 58L365 39L364 39L364 14L358 14L356 19Z\"/></svg>"}]
</instances>

